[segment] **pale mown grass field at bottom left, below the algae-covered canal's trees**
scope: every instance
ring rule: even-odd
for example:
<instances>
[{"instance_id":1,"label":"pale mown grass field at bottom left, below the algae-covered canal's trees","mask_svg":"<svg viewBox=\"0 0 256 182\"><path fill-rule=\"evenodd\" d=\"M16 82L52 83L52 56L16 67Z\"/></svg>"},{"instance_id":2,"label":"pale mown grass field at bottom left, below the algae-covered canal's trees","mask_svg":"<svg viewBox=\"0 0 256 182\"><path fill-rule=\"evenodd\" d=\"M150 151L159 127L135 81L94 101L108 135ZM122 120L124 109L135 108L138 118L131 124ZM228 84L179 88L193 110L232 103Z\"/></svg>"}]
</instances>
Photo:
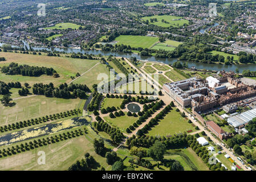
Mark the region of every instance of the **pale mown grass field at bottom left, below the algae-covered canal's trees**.
<instances>
[{"instance_id":1,"label":"pale mown grass field at bottom left, below the algae-covered canal's trees","mask_svg":"<svg viewBox=\"0 0 256 182\"><path fill-rule=\"evenodd\" d=\"M106 163L106 159L100 155L97 155L94 151L92 144L92 140L94 138L96 138L95 134L89 130L89 133L86 136L83 135L80 137L63 140L58 143L52 143L47 146L35 148L31 151L22 152L21 154L8 156L8 158L0 159L0 169L36 171L67 170L67 168L74 164L76 160L84 158L84 154L86 154L86 152L89 152L90 155L94 157L96 162L100 164L100 166L108 169L110 166ZM29 142L29 140L27 142ZM109 148L108 145L105 144L105 146ZM39 151L44 151L46 153L45 165L39 165L37 163ZM99 164L96 167L97 169L100 168Z\"/></svg>"}]
</instances>

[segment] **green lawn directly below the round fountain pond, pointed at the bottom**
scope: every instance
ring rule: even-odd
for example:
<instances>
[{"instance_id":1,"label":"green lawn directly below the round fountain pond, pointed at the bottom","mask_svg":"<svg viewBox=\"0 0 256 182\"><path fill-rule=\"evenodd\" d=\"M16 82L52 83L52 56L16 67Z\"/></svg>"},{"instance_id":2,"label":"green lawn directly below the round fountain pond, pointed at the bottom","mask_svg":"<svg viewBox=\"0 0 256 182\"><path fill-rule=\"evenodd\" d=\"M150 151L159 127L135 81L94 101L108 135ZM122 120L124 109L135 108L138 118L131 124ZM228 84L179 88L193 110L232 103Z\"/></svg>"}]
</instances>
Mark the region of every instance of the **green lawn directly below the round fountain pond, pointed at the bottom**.
<instances>
[{"instance_id":1,"label":"green lawn directly below the round fountain pond, pointed at the bottom","mask_svg":"<svg viewBox=\"0 0 256 182\"><path fill-rule=\"evenodd\" d=\"M129 127L139 119L139 117L127 116L127 112L124 112L124 114L125 115L116 118L110 118L109 116L106 116L104 117L104 119L111 126L117 127L118 129L124 132L127 129L127 127Z\"/></svg>"}]
</instances>

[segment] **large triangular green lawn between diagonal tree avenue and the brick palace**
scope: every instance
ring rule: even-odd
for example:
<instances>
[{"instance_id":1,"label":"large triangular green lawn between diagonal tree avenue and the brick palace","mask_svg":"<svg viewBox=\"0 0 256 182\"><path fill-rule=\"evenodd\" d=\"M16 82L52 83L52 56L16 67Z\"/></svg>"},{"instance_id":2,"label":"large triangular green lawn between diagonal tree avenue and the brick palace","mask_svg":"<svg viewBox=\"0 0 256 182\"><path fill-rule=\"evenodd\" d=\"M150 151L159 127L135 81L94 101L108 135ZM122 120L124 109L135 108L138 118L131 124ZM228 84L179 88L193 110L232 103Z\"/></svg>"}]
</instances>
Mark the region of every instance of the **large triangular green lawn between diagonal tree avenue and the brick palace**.
<instances>
[{"instance_id":1,"label":"large triangular green lawn between diagonal tree avenue and the brick palace","mask_svg":"<svg viewBox=\"0 0 256 182\"><path fill-rule=\"evenodd\" d=\"M152 127L147 135L155 137L156 135L174 135L183 133L184 131L192 130L193 126L187 122L187 119L182 118L181 114L175 111L175 108L165 115L164 119L161 119L159 125Z\"/></svg>"}]
</instances>

